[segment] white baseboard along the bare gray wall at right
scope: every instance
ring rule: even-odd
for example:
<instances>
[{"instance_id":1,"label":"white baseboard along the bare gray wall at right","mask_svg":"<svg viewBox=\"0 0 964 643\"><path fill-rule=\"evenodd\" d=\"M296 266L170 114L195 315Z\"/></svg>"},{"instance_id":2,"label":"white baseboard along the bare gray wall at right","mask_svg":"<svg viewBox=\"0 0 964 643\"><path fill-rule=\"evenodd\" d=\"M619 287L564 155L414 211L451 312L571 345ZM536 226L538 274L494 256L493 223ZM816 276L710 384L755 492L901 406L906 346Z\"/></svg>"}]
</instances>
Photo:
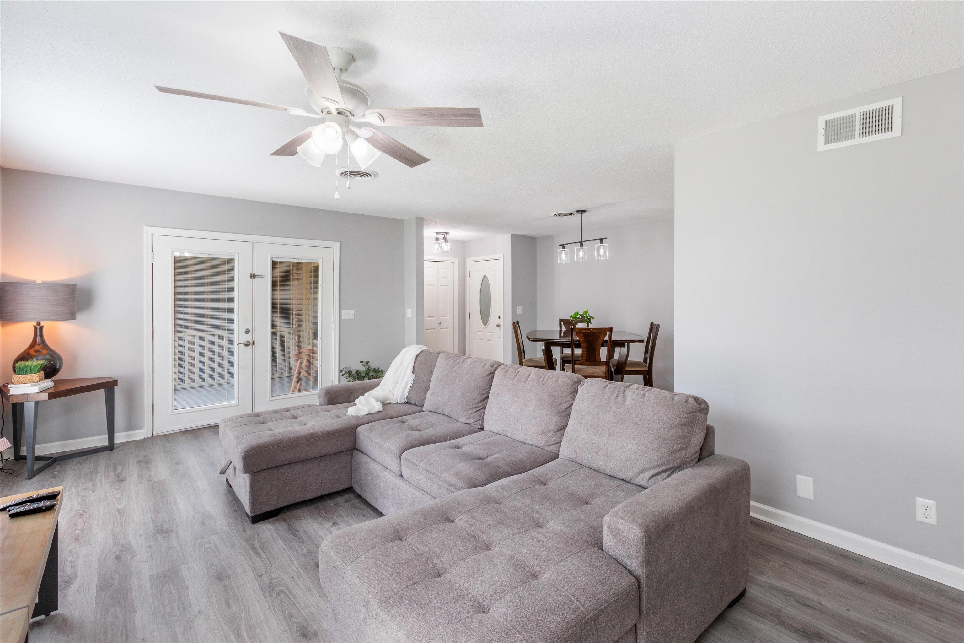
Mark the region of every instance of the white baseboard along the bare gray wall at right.
<instances>
[{"instance_id":1,"label":"white baseboard along the bare gray wall at right","mask_svg":"<svg viewBox=\"0 0 964 643\"><path fill-rule=\"evenodd\" d=\"M936 580L955 589L964 590L964 569L948 563L942 563L939 560L927 558L907 549L899 549L893 545L871 540L865 536L832 527L829 524L796 516L782 509L767 507L759 502L750 502L750 515L763 522L770 522L804 536L816 538L823 543L859 553L905 572L924 576L924 578Z\"/></svg>"}]
</instances>

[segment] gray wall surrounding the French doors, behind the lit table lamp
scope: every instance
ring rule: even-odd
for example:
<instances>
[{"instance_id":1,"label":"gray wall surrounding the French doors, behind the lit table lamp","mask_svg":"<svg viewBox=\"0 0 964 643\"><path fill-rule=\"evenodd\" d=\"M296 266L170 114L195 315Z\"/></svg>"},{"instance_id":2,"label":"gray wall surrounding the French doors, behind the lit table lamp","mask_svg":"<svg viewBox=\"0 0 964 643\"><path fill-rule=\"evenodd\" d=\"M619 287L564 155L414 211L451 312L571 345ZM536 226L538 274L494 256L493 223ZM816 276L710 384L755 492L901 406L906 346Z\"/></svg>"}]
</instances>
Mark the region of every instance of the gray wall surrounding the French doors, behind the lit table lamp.
<instances>
[{"instance_id":1,"label":"gray wall surrounding the French doors, behind the lit table lamp","mask_svg":"<svg viewBox=\"0 0 964 643\"><path fill-rule=\"evenodd\" d=\"M3 280L78 284L76 321L48 324L46 336L64 356L64 377L120 380L119 432L144 428L145 226L340 241L340 308L355 309L340 320L341 364L387 368L405 345L402 220L7 169L2 181ZM4 324L5 377L30 329ZM94 396L40 411L41 443L102 433Z\"/></svg>"}]
</instances>

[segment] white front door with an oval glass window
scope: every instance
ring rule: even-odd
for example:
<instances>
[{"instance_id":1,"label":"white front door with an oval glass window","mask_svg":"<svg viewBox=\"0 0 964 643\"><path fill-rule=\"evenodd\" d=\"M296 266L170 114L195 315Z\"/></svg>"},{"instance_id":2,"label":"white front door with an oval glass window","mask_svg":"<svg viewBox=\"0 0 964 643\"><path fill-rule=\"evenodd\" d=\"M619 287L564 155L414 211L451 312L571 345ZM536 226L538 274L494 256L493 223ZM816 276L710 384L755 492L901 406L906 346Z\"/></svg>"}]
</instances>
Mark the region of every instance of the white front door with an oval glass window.
<instances>
[{"instance_id":1,"label":"white front door with an oval glass window","mask_svg":"<svg viewBox=\"0 0 964 643\"><path fill-rule=\"evenodd\" d=\"M469 355L502 362L502 259L469 259Z\"/></svg>"}]
</instances>

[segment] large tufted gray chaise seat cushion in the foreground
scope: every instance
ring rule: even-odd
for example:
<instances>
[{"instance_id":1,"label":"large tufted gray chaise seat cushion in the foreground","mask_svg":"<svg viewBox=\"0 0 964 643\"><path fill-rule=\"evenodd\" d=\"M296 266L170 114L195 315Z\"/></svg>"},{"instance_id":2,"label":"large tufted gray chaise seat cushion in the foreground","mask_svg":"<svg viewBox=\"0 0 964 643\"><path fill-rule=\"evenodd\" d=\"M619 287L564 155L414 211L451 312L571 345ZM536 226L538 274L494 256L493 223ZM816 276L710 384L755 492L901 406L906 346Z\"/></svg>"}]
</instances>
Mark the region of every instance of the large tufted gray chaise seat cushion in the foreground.
<instances>
[{"instance_id":1,"label":"large tufted gray chaise seat cushion in the foreground","mask_svg":"<svg viewBox=\"0 0 964 643\"><path fill-rule=\"evenodd\" d=\"M601 549L603 517L640 491L554 460L338 531L322 569L394 641L615 641L639 589Z\"/></svg>"}]
</instances>

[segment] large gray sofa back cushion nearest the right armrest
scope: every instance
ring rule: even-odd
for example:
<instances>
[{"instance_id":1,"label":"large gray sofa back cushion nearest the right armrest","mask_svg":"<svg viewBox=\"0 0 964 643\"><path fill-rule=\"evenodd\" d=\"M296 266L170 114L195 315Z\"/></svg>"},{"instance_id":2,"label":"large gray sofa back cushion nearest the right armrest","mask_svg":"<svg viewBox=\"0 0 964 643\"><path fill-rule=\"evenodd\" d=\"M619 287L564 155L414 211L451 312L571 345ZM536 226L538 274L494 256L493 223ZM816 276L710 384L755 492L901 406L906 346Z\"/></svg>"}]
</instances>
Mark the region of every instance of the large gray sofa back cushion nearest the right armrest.
<instances>
[{"instance_id":1,"label":"large gray sofa back cushion nearest the right armrest","mask_svg":"<svg viewBox=\"0 0 964 643\"><path fill-rule=\"evenodd\" d=\"M652 487L696 464L709 412L710 405L695 395L585 380L559 457Z\"/></svg>"}]
</instances>

